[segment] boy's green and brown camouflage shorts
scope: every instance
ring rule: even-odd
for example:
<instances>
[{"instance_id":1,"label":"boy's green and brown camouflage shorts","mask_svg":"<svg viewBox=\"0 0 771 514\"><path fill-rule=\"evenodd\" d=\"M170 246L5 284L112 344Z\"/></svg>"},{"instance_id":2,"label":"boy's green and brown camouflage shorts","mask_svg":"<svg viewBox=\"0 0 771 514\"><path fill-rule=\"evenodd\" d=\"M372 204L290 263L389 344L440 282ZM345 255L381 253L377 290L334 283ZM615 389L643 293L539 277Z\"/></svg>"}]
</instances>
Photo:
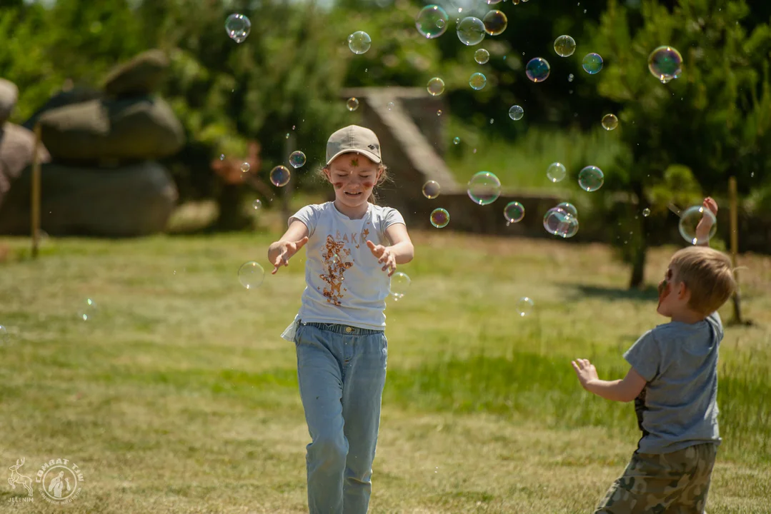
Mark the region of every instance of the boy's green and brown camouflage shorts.
<instances>
[{"instance_id":1,"label":"boy's green and brown camouflage shorts","mask_svg":"<svg viewBox=\"0 0 771 514\"><path fill-rule=\"evenodd\" d=\"M654 455L635 452L594 514L702 514L717 445Z\"/></svg>"}]
</instances>

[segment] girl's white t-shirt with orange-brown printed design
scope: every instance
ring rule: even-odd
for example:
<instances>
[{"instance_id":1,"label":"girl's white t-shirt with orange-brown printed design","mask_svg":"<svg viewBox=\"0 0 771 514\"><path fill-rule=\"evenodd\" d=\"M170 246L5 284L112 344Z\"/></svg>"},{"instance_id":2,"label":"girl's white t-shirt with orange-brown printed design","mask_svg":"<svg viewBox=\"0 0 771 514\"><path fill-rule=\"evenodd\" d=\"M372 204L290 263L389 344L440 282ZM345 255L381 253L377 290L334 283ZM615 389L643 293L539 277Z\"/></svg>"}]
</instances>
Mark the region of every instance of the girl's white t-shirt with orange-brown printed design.
<instances>
[{"instance_id":1,"label":"girl's white t-shirt with orange-brown printed design","mask_svg":"<svg viewBox=\"0 0 771 514\"><path fill-rule=\"evenodd\" d=\"M392 244L385 229L404 224L398 210L368 204L361 220L352 220L335 203L307 205L290 217L308 227L305 291L298 317L304 323L338 323L385 328L385 298L391 279L372 255L367 241Z\"/></svg>"}]
</instances>

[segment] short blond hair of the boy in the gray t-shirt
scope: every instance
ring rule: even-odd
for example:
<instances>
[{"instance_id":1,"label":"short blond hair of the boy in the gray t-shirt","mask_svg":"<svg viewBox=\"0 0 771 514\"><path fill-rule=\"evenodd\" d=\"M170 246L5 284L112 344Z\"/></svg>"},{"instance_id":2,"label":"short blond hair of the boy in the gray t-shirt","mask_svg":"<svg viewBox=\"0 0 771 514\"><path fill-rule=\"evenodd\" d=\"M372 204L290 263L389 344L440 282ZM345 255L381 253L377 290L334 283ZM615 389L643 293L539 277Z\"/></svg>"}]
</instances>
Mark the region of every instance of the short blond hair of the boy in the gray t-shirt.
<instances>
[{"instance_id":1,"label":"short blond hair of the boy in the gray t-shirt","mask_svg":"<svg viewBox=\"0 0 771 514\"><path fill-rule=\"evenodd\" d=\"M669 263L678 281L691 291L688 306L709 316L736 290L731 260L709 247L687 247L675 252Z\"/></svg>"}]
</instances>

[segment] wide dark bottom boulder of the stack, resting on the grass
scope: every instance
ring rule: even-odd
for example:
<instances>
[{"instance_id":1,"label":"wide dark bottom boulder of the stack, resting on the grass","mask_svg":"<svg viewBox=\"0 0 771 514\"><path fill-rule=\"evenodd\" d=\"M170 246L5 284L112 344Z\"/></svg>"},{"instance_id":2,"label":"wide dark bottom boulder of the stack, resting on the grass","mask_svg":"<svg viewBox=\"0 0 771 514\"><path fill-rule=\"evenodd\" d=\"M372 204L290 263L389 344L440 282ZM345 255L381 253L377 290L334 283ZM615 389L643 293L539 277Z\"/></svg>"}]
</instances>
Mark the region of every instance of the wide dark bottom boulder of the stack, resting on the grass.
<instances>
[{"instance_id":1,"label":"wide dark bottom boulder of the stack, resting on the grass","mask_svg":"<svg viewBox=\"0 0 771 514\"><path fill-rule=\"evenodd\" d=\"M0 206L0 233L29 234L31 169L25 168ZM40 224L56 236L139 237L162 232L177 188L159 163L113 169L44 164Z\"/></svg>"}]
</instances>

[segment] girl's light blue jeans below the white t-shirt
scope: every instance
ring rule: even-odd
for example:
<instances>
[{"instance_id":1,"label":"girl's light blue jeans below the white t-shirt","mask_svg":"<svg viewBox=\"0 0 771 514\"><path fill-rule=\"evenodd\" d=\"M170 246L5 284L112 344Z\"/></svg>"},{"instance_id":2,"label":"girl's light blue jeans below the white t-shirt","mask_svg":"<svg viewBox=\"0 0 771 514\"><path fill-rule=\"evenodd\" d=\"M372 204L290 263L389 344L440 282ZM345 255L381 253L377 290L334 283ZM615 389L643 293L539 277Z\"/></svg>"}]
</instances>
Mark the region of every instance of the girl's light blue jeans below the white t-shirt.
<instances>
[{"instance_id":1,"label":"girl's light blue jeans below the white t-shirt","mask_svg":"<svg viewBox=\"0 0 771 514\"><path fill-rule=\"evenodd\" d=\"M365 514L380 426L388 341L383 331L300 323L297 375L311 444L311 514Z\"/></svg>"}]
</instances>

